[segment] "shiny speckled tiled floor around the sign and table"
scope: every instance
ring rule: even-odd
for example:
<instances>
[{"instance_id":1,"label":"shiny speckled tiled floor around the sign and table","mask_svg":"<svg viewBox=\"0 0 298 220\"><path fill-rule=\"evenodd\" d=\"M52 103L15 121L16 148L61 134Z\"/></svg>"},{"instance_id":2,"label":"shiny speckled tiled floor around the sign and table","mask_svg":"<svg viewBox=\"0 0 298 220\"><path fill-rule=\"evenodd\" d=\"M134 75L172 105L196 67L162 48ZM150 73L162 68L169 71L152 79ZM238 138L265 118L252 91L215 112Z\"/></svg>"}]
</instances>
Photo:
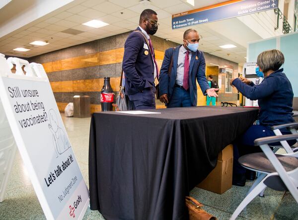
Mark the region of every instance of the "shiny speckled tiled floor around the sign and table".
<instances>
[{"instance_id":1,"label":"shiny speckled tiled floor around the sign and table","mask_svg":"<svg viewBox=\"0 0 298 220\"><path fill-rule=\"evenodd\" d=\"M88 137L90 118L65 118L66 130L74 149L74 153L83 177L88 184ZM252 181L245 187L233 186L223 195L195 188L191 196L203 203L204 209L218 217L228 220L244 199ZM10 174L5 199L0 203L0 220L43 220L45 216L39 205L30 179L17 152ZM84 220L103 220L97 211L89 208ZM271 189L265 191L265 197L255 198L237 218L239 220L298 220L298 205L292 195Z\"/></svg>"}]
</instances>

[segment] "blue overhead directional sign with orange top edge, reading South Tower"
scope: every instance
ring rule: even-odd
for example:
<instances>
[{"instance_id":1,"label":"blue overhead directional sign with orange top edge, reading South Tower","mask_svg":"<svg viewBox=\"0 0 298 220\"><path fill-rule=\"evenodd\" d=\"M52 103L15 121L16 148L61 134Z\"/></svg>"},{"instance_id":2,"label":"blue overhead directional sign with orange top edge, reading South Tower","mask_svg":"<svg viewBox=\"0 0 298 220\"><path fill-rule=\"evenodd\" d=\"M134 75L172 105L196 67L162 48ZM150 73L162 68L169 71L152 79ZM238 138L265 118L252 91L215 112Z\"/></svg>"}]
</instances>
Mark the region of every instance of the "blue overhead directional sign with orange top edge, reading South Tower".
<instances>
[{"instance_id":1,"label":"blue overhead directional sign with orange top edge, reading South Tower","mask_svg":"<svg viewBox=\"0 0 298 220\"><path fill-rule=\"evenodd\" d=\"M172 15L172 29L252 14L277 7L278 0L229 0Z\"/></svg>"}]
</instances>

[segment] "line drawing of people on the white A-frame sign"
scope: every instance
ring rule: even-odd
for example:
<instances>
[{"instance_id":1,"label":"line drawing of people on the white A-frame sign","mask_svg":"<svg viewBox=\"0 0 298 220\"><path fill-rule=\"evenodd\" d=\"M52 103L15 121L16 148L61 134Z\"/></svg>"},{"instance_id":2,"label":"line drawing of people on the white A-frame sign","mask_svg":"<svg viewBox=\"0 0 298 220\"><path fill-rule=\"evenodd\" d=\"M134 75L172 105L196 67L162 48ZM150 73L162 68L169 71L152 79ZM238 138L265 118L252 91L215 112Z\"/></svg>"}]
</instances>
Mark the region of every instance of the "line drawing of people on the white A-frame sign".
<instances>
[{"instance_id":1,"label":"line drawing of people on the white A-frame sign","mask_svg":"<svg viewBox=\"0 0 298 220\"><path fill-rule=\"evenodd\" d=\"M49 129L52 132L54 149L58 157L60 154L70 148L71 144L69 143L68 137L65 134L64 130L59 127L58 117L53 109L49 111L49 117Z\"/></svg>"}]
</instances>

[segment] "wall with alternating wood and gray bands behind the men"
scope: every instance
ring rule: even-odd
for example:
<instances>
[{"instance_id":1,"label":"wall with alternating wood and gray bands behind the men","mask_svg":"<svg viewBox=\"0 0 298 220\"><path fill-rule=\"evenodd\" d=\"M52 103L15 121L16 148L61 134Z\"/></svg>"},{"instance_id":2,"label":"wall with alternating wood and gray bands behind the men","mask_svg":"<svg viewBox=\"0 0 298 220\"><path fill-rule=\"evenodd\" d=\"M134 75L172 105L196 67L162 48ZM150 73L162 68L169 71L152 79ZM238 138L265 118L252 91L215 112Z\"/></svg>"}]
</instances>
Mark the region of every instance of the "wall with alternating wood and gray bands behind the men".
<instances>
[{"instance_id":1,"label":"wall with alternating wood and gray bands behind the men","mask_svg":"<svg viewBox=\"0 0 298 220\"><path fill-rule=\"evenodd\" d=\"M53 51L30 58L29 62L40 63L45 68L61 112L64 112L69 102L73 102L74 95L89 95L91 113L101 111L100 90L105 76L110 77L115 98L118 95L124 43L128 34L129 32ZM151 40L160 69L164 51L178 44L155 36L151 36ZM208 59L223 60L206 55L206 63ZM198 87L198 105L205 104L206 97ZM164 108L164 104L156 100L156 108Z\"/></svg>"}]
</instances>

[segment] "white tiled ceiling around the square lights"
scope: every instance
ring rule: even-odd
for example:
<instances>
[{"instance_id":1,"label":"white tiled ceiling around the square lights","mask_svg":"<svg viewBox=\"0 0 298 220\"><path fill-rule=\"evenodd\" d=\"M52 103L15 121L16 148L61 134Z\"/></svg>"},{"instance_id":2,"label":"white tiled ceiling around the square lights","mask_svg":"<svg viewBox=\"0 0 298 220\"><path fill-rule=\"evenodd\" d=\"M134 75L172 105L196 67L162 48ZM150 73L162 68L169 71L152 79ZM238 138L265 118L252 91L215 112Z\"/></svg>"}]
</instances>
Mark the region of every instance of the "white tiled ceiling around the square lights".
<instances>
[{"instance_id":1,"label":"white tiled ceiling around the square lights","mask_svg":"<svg viewBox=\"0 0 298 220\"><path fill-rule=\"evenodd\" d=\"M137 27L140 13L146 8L151 8L158 14L160 26L155 35L181 43L183 32L189 27L172 30L172 14L223 1L225 0L195 0L195 7L192 7L186 3L186 0L150 0L145 3L140 3L139 0L74 0L72 3L59 8L59 10L53 11L1 37L0 53L9 56L32 57L128 32ZM10 3L0 9L1 14ZM91 28L82 25L82 23L91 19L99 19L110 25L102 28ZM82 33L72 35L62 32L69 28L82 31ZM200 24L192 26L192 28L197 29L203 37L199 46L201 50L236 63L245 62L246 42L260 39L249 28L245 28L245 25L237 18ZM36 40L47 40L50 44L46 46L29 44ZM232 49L219 47L224 44L234 44L237 47ZM13 51L17 47L30 48L30 51Z\"/></svg>"}]
</instances>

